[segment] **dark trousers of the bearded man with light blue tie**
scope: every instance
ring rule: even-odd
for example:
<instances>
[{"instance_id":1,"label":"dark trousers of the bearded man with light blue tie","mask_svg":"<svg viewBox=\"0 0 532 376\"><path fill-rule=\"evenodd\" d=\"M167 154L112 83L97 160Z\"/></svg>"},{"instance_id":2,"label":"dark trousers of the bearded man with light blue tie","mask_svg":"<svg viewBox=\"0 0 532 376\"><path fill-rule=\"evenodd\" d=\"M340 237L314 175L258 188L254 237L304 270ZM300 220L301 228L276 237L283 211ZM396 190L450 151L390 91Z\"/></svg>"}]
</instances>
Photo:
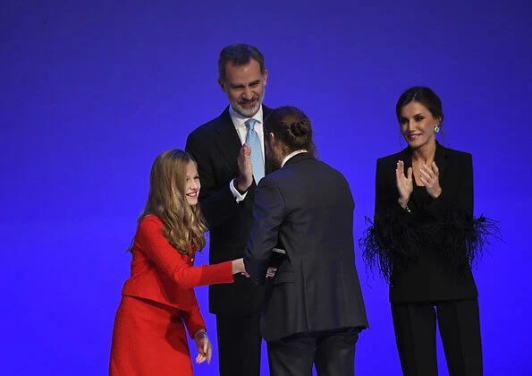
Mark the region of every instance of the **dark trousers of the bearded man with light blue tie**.
<instances>
[{"instance_id":1,"label":"dark trousers of the bearded man with light blue tie","mask_svg":"<svg viewBox=\"0 0 532 376\"><path fill-rule=\"evenodd\" d=\"M258 376L260 373L260 312L216 314L220 376Z\"/></svg>"}]
</instances>

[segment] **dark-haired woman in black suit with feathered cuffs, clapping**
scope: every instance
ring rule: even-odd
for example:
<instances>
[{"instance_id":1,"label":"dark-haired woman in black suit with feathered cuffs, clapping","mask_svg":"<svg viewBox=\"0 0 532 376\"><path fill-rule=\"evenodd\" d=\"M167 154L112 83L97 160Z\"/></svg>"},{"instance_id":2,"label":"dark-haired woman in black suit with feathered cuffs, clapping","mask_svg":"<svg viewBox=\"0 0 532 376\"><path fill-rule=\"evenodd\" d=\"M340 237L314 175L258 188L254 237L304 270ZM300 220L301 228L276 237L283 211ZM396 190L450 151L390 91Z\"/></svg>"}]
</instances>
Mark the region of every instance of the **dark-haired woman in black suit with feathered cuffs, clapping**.
<instances>
[{"instance_id":1,"label":"dark-haired woman in black suit with feathered cuffs, clapping","mask_svg":"<svg viewBox=\"0 0 532 376\"><path fill-rule=\"evenodd\" d=\"M406 90L396 114L408 147L377 160L375 218L362 239L364 256L390 284L402 372L437 375L437 322L450 375L481 375L471 265L490 222L473 218L472 158L436 141L443 111L433 90Z\"/></svg>"}]
</instances>

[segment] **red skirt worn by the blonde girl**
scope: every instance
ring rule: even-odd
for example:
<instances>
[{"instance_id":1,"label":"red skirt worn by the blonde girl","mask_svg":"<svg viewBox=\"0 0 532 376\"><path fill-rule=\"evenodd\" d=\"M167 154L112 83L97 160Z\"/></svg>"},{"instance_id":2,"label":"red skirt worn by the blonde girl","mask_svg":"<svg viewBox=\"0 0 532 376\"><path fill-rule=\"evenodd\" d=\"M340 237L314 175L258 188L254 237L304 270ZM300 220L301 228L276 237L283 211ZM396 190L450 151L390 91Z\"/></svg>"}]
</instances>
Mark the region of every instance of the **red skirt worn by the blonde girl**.
<instances>
[{"instance_id":1,"label":"red skirt worn by the blonde girl","mask_svg":"<svg viewBox=\"0 0 532 376\"><path fill-rule=\"evenodd\" d=\"M111 345L111 376L192 376L189 343L178 309L122 296Z\"/></svg>"}]
</instances>

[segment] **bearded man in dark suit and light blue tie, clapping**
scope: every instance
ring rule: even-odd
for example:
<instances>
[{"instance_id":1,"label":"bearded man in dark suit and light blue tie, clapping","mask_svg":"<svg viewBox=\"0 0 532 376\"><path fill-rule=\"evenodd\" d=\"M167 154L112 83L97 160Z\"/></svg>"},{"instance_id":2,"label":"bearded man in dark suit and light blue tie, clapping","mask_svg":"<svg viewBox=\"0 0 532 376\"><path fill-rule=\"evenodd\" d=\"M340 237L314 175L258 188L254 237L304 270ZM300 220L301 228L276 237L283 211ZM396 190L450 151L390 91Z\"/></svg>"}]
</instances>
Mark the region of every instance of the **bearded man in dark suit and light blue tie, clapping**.
<instances>
[{"instance_id":1,"label":"bearded man in dark suit and light blue tie, clapping","mask_svg":"<svg viewBox=\"0 0 532 376\"><path fill-rule=\"evenodd\" d=\"M245 44L224 47L218 73L230 106L191 132L186 144L198 162L199 204L210 231L211 263L242 257L253 224L255 188L270 169L264 158L263 123L270 111L262 105L268 76L264 56ZM255 376L260 370L264 287L235 277L234 284L209 286L220 375Z\"/></svg>"}]
</instances>

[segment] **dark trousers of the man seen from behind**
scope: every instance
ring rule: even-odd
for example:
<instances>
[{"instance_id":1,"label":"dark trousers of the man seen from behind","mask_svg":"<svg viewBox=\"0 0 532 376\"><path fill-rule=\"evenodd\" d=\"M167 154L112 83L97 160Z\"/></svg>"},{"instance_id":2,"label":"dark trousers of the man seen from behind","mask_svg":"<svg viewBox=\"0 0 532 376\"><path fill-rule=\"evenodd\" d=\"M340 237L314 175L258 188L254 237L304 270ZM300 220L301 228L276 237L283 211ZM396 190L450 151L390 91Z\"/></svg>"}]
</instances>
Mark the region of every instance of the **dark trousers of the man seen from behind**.
<instances>
[{"instance_id":1,"label":"dark trousers of the man seen from behind","mask_svg":"<svg viewBox=\"0 0 532 376\"><path fill-rule=\"evenodd\" d=\"M300 333L268 341L270 376L353 376L359 329Z\"/></svg>"}]
</instances>

